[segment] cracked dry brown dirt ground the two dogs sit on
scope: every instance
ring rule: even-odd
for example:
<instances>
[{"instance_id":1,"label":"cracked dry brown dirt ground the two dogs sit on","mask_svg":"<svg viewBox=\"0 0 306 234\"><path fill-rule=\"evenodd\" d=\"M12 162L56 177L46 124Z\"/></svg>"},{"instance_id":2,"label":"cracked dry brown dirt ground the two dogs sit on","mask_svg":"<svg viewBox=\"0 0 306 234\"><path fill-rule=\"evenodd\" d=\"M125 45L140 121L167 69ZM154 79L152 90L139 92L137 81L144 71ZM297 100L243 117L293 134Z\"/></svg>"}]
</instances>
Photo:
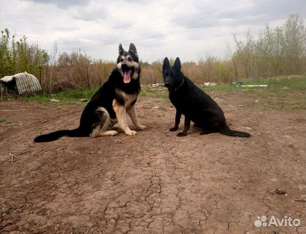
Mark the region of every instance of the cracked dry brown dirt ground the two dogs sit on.
<instances>
[{"instance_id":1,"label":"cracked dry brown dirt ground the two dogs sit on","mask_svg":"<svg viewBox=\"0 0 306 234\"><path fill-rule=\"evenodd\" d=\"M83 107L0 102L1 118L13 121L0 124L0 156L8 157L0 158L0 233L305 233L305 202L294 200L305 195L305 110L218 97L229 126L251 138L199 136L195 127L176 137L168 99L140 97L148 129L136 136L34 143L77 127ZM13 165L10 153L28 161ZM271 192L278 187L287 195ZM256 228L261 215L301 225Z\"/></svg>"}]
</instances>

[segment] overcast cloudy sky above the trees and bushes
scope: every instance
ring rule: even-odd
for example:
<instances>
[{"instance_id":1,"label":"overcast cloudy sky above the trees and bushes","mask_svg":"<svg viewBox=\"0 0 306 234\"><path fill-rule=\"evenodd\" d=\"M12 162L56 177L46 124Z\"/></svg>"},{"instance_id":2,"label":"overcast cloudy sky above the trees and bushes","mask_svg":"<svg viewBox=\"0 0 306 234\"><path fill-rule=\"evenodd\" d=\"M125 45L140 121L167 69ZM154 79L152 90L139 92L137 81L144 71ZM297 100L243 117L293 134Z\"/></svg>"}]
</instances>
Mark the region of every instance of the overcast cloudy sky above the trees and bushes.
<instances>
[{"instance_id":1,"label":"overcast cloudy sky above the trees and bushes","mask_svg":"<svg viewBox=\"0 0 306 234\"><path fill-rule=\"evenodd\" d=\"M290 14L306 21L305 0L0 0L0 30L48 51L80 48L96 59L115 60L118 44L134 42L139 57L225 57L232 33L256 38L268 23L282 26Z\"/></svg>"}]
</instances>

